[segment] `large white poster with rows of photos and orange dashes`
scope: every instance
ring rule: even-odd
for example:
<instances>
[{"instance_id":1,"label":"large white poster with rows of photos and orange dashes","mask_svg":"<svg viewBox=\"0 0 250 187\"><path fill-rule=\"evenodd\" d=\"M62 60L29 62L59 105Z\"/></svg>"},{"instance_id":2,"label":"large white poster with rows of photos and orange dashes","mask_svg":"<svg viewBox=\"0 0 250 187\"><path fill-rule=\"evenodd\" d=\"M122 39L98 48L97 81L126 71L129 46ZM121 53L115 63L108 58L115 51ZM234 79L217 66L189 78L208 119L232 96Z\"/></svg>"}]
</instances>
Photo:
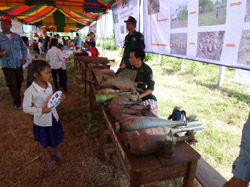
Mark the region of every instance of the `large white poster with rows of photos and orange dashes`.
<instances>
[{"instance_id":1,"label":"large white poster with rows of photos and orange dashes","mask_svg":"<svg viewBox=\"0 0 250 187\"><path fill-rule=\"evenodd\" d=\"M145 0L146 52L250 70L250 0Z\"/></svg>"}]
</instances>

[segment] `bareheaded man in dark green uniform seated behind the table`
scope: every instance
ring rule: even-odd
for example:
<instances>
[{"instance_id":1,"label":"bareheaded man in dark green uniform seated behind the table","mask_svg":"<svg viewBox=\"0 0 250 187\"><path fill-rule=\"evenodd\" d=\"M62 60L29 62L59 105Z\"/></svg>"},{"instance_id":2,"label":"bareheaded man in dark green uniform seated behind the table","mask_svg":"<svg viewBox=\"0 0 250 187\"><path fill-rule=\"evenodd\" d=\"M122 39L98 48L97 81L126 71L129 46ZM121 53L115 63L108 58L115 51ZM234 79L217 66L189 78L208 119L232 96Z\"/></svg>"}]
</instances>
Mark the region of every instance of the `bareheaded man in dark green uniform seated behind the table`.
<instances>
[{"instance_id":1,"label":"bareheaded man in dark green uniform seated behind the table","mask_svg":"<svg viewBox=\"0 0 250 187\"><path fill-rule=\"evenodd\" d=\"M131 69L137 70L135 82L137 82L137 87L143 90L139 98L142 99L144 105L150 105L151 111L157 115L157 99L152 94L155 85L153 72L152 69L143 62L144 59L145 52L142 48L131 50L129 57Z\"/></svg>"}]
</instances>

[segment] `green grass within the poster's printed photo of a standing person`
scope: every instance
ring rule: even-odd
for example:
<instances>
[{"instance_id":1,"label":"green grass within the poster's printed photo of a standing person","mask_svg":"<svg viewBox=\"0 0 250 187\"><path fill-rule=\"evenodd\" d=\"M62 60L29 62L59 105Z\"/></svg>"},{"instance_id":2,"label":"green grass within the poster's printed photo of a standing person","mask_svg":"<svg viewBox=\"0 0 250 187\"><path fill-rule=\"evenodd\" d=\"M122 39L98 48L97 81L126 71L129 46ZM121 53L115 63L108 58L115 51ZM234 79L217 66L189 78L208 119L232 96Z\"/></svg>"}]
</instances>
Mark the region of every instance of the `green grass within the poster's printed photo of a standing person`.
<instances>
[{"instance_id":1,"label":"green grass within the poster's printed photo of a standing person","mask_svg":"<svg viewBox=\"0 0 250 187\"><path fill-rule=\"evenodd\" d=\"M225 24L226 8L221 8L219 17L216 18L216 11L199 14L199 26Z\"/></svg>"}]
</instances>

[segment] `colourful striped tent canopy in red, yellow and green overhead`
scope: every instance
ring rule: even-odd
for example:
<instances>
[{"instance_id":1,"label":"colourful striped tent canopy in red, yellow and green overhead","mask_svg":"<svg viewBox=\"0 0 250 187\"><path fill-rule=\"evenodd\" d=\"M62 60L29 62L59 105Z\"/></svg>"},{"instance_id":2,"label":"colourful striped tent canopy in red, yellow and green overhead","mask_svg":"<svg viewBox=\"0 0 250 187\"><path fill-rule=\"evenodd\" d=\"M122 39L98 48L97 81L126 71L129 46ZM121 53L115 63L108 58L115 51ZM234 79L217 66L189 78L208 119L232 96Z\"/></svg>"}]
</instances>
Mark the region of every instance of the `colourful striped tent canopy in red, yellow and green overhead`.
<instances>
[{"instance_id":1,"label":"colourful striped tent canopy in red, yellow and green overhead","mask_svg":"<svg viewBox=\"0 0 250 187\"><path fill-rule=\"evenodd\" d=\"M27 25L71 32L98 20L114 0L0 0L0 14Z\"/></svg>"}]
</instances>

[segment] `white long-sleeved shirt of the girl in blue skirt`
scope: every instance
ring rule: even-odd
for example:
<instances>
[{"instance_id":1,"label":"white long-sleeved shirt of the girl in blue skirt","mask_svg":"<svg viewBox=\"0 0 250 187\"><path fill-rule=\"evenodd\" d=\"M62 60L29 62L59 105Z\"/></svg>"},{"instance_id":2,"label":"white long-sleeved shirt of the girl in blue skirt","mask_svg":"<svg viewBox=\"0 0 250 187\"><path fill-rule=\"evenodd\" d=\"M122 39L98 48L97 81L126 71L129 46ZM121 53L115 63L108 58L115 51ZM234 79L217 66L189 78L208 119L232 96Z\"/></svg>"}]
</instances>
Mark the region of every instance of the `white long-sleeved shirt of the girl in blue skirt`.
<instances>
[{"instance_id":1,"label":"white long-sleeved shirt of the girl in blue skirt","mask_svg":"<svg viewBox=\"0 0 250 187\"><path fill-rule=\"evenodd\" d=\"M55 108L50 113L42 113L47 98L53 94L52 86L48 82L47 88L40 87L35 81L24 92L23 111L34 115L34 124L41 127L52 126L52 114L58 121L59 116Z\"/></svg>"}]
</instances>

